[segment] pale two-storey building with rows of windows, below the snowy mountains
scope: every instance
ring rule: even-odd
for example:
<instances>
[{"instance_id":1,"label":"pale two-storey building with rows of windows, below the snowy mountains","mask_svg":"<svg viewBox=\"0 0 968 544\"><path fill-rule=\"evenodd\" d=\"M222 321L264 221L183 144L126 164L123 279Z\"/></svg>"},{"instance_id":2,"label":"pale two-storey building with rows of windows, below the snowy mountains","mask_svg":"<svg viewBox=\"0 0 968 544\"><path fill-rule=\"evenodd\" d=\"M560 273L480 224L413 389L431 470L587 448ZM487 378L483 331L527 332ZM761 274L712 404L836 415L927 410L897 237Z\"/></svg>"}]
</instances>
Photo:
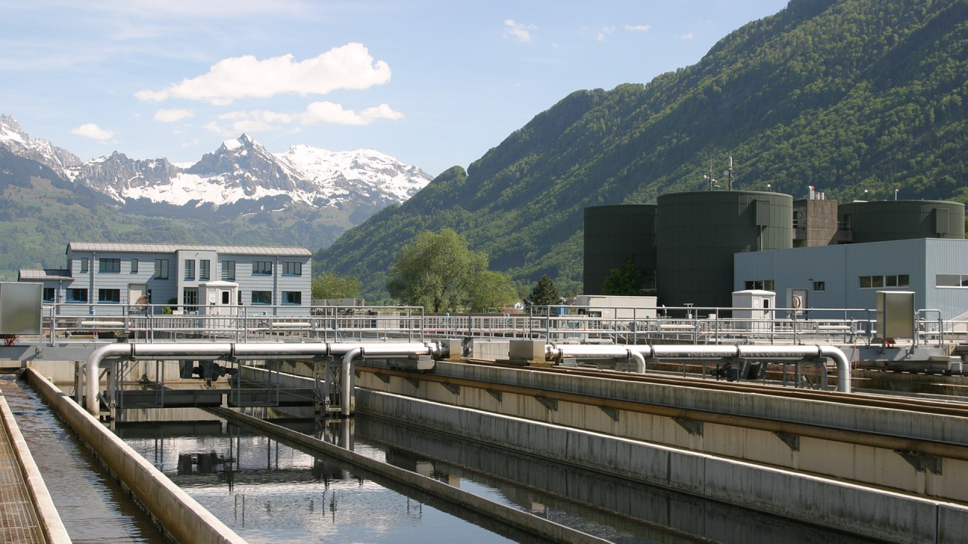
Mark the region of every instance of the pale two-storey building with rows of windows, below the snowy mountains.
<instances>
[{"instance_id":1,"label":"pale two-storey building with rows of windows, below the snowy mountains","mask_svg":"<svg viewBox=\"0 0 968 544\"><path fill-rule=\"evenodd\" d=\"M149 304L170 304L186 314L205 313L199 312L204 306L254 305L268 311L310 306L312 257L296 247L71 242L67 268L21 269L18 279L43 284L45 304L63 305L62 313L77 316L98 310L122 315L122 307L146 311ZM237 291L229 298L219 294L209 300L206 287L215 293L232 285Z\"/></svg>"}]
</instances>

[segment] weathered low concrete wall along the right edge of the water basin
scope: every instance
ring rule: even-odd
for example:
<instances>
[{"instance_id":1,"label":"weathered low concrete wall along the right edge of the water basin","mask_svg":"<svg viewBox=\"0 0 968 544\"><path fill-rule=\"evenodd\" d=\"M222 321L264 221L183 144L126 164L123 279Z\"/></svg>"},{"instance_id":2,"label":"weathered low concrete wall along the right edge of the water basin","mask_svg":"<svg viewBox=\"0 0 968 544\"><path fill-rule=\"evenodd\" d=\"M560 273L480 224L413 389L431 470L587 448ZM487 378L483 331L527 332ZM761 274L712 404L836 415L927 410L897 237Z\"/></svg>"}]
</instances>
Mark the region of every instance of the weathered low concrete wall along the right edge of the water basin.
<instances>
[{"instance_id":1,"label":"weathered low concrete wall along the right edge of the water basin","mask_svg":"<svg viewBox=\"0 0 968 544\"><path fill-rule=\"evenodd\" d=\"M968 508L841 481L371 390L357 409L890 542L964 541Z\"/></svg>"}]
</instances>

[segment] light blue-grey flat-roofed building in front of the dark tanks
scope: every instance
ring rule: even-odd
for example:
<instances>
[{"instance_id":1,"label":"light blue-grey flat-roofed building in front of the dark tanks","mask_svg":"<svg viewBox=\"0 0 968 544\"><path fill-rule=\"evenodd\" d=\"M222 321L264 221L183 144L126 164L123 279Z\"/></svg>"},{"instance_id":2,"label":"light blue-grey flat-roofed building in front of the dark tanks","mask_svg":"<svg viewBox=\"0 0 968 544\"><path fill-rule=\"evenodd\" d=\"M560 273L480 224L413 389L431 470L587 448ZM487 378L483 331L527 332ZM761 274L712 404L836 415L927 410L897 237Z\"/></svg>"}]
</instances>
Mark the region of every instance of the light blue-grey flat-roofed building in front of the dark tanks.
<instances>
[{"instance_id":1,"label":"light blue-grey flat-roofed building in front of the dark tanks","mask_svg":"<svg viewBox=\"0 0 968 544\"><path fill-rule=\"evenodd\" d=\"M811 309L874 309L877 291L911 290L916 309L938 310L944 319L968 310L965 239L913 238L741 253L734 262L734 290L754 281L769 281L778 293L803 289L809 293L806 306ZM811 312L811 317L820 316Z\"/></svg>"}]
</instances>

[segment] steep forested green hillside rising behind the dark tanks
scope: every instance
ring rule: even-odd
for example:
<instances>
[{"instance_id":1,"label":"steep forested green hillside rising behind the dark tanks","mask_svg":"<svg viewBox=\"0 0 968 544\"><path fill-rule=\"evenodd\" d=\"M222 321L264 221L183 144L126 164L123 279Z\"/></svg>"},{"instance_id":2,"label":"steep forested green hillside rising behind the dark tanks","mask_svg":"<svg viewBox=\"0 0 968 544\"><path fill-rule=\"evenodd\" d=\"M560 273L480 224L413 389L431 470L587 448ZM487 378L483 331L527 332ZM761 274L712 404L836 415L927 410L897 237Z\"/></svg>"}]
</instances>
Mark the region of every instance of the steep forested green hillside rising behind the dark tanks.
<instances>
[{"instance_id":1,"label":"steep forested green hillside rising behind the dark tanks","mask_svg":"<svg viewBox=\"0 0 968 544\"><path fill-rule=\"evenodd\" d=\"M968 200L968 1L792 0L696 65L583 90L321 250L371 300L417 232L451 227L520 287L582 278L583 208L706 189ZM628 74L634 80L635 74Z\"/></svg>"}]
</instances>

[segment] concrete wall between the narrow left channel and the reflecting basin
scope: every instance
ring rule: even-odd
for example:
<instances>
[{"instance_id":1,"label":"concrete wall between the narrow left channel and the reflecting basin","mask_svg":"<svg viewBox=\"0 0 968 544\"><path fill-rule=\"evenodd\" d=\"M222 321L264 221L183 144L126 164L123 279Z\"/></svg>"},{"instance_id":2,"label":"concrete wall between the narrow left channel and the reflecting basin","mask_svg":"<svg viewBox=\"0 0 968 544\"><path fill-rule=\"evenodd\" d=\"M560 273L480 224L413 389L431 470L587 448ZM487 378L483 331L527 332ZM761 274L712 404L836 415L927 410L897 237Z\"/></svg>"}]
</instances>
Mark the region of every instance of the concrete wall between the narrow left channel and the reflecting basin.
<instances>
[{"instance_id":1,"label":"concrete wall between the narrow left channel and the reflecting basin","mask_svg":"<svg viewBox=\"0 0 968 544\"><path fill-rule=\"evenodd\" d=\"M27 369L25 376L46 403L131 490L132 495L176 542L245 544L242 537L173 484L164 473L145 461L124 440L117 438L60 389L32 369Z\"/></svg>"}]
</instances>

